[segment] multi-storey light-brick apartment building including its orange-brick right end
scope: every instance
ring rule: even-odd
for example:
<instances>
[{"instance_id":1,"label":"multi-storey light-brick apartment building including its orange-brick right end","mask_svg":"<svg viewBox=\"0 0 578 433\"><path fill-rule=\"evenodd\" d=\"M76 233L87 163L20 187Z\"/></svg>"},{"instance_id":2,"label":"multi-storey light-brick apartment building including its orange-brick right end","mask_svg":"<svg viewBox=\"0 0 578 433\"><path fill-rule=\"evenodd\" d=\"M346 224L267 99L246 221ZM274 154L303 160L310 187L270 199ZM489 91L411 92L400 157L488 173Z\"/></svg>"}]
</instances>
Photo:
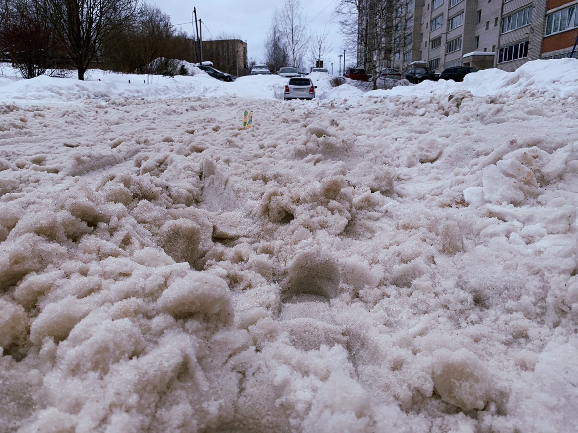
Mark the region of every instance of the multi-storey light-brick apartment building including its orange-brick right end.
<instances>
[{"instance_id":1,"label":"multi-storey light-brick apartment building including its orange-brick right end","mask_svg":"<svg viewBox=\"0 0 578 433\"><path fill-rule=\"evenodd\" d=\"M413 28L383 67L513 71L529 60L568 57L578 35L578 0L408 0L405 9Z\"/></svg>"}]
</instances>

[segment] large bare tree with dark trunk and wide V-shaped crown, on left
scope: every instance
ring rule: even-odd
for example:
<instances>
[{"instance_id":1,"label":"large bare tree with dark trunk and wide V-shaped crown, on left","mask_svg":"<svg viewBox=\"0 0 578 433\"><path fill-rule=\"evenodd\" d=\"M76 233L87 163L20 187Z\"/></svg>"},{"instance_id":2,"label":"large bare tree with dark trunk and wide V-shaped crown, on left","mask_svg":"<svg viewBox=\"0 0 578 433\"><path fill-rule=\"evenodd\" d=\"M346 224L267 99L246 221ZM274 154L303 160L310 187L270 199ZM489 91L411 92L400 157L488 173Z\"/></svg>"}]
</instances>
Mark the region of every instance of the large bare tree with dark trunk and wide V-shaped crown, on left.
<instances>
[{"instance_id":1,"label":"large bare tree with dark trunk and wide V-shaped crown, on left","mask_svg":"<svg viewBox=\"0 0 578 433\"><path fill-rule=\"evenodd\" d=\"M134 25L140 0L34 0L42 6L79 80L103 44Z\"/></svg>"}]
</instances>

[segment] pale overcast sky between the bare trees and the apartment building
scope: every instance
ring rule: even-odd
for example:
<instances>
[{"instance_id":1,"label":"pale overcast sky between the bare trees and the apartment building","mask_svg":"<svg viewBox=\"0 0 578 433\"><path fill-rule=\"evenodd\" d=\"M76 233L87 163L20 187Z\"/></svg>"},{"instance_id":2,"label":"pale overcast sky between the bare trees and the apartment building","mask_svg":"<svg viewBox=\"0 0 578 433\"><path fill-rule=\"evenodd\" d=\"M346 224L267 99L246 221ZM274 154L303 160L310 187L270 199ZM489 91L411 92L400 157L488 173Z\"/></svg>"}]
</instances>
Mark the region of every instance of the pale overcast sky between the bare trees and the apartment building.
<instances>
[{"instance_id":1,"label":"pale overcast sky between the bare trees and the apartment building","mask_svg":"<svg viewBox=\"0 0 578 433\"><path fill-rule=\"evenodd\" d=\"M271 25L271 18L275 13L275 8L283 8L285 0L264 0L264 1L239 1L239 0L212 0L186 2L184 0L165 0L157 3L163 12L169 14L173 24L189 23L191 21L192 8L197 8L197 17L203 23L203 39L217 38L219 33L238 36L247 41L249 58L254 58L257 62L264 61L264 43L267 32ZM153 3L151 1L151 3ZM327 26L328 42L332 45L332 52L329 61L334 63L334 73L338 73L339 54L343 54L343 38L339 33L339 27L332 21L332 14L335 10L336 0L301 0L305 6L305 14L309 30L311 33L323 32ZM187 33L192 34L194 24L183 24L177 26ZM212 35L212 36L211 36ZM341 49L341 51L339 51ZM349 55L347 64L349 64ZM305 63L309 65L308 62ZM331 63L325 64L331 72ZM309 69L309 68L307 68Z\"/></svg>"}]
</instances>

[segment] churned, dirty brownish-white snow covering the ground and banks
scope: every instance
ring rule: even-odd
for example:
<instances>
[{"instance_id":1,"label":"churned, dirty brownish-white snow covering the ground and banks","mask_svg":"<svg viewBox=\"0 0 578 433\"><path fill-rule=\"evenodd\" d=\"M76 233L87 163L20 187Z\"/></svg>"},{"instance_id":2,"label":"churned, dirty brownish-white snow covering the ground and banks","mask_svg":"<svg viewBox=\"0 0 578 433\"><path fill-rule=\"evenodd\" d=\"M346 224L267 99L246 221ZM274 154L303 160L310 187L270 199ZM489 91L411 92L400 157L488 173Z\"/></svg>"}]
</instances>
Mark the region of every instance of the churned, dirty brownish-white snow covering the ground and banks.
<instances>
[{"instance_id":1,"label":"churned, dirty brownish-white snow covering the ground and banks","mask_svg":"<svg viewBox=\"0 0 578 433\"><path fill-rule=\"evenodd\" d=\"M578 61L148 79L0 79L0 431L578 430Z\"/></svg>"}]
</instances>

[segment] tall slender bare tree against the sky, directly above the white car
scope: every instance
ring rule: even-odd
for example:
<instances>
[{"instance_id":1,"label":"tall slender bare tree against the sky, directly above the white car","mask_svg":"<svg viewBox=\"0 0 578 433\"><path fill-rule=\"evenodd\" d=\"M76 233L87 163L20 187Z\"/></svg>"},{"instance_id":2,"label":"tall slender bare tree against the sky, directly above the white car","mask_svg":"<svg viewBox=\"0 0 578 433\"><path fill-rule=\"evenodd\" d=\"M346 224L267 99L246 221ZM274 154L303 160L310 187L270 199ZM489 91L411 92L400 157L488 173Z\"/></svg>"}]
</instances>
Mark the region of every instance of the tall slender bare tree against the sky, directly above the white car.
<instances>
[{"instance_id":1,"label":"tall slender bare tree against the sky, directly above the white car","mask_svg":"<svg viewBox=\"0 0 578 433\"><path fill-rule=\"evenodd\" d=\"M279 29L287 47L291 66L301 69L309 35L300 0L285 0L279 14Z\"/></svg>"}]
</instances>

